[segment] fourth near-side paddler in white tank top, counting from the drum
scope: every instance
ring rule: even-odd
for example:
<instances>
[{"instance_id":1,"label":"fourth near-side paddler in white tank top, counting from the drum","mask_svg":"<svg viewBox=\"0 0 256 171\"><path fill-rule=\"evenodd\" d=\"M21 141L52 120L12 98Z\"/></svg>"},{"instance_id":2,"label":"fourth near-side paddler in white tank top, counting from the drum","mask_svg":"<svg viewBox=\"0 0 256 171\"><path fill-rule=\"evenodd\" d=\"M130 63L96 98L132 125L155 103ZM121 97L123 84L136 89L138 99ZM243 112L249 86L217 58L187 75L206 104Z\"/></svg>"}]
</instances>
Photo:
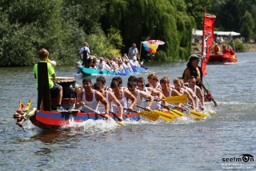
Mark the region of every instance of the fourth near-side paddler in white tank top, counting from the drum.
<instances>
[{"instance_id":1,"label":"fourth near-side paddler in white tank top, counting from the drum","mask_svg":"<svg viewBox=\"0 0 256 171\"><path fill-rule=\"evenodd\" d=\"M130 93L133 94L134 97L136 97L137 99L136 105L142 106L142 103L143 103L142 99L147 99L149 102L147 103L145 110L150 111L150 106L154 102L154 97L146 93L145 91L140 91L139 89L137 89L136 82L127 82L127 88L128 88L128 91L130 91ZM130 106L130 100L128 100L128 106ZM140 108L138 108L137 106L135 106L133 109L135 111L140 110Z\"/></svg>"}]
</instances>

